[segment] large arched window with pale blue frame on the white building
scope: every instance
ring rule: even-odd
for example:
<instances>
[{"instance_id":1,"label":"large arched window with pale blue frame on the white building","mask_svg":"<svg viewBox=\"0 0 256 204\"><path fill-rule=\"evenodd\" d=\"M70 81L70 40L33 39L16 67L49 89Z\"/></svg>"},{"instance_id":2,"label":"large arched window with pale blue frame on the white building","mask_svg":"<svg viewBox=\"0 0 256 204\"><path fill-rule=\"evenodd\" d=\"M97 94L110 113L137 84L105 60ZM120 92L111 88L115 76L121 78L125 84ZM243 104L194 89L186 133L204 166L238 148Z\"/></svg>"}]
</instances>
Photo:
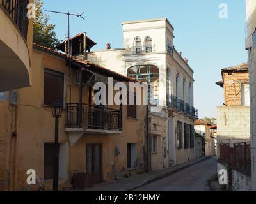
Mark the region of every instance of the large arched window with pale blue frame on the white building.
<instances>
[{"instance_id":1,"label":"large arched window with pale blue frame on the white building","mask_svg":"<svg viewBox=\"0 0 256 204\"><path fill-rule=\"evenodd\" d=\"M150 98L159 101L159 68L154 65L132 66L128 69L128 77L147 82L152 85Z\"/></svg>"}]
</instances>

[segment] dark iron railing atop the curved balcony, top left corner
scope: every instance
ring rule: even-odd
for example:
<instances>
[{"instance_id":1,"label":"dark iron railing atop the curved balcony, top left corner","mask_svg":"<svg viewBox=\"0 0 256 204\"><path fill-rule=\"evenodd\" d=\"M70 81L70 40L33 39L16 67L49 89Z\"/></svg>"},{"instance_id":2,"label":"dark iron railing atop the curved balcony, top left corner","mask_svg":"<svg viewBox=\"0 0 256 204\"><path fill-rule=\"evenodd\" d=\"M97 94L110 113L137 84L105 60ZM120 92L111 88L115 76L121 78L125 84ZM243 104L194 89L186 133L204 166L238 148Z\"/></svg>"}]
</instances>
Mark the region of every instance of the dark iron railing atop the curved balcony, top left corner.
<instances>
[{"instance_id":1,"label":"dark iron railing atop the curved balcony, top left corner","mask_svg":"<svg viewBox=\"0 0 256 204\"><path fill-rule=\"evenodd\" d=\"M1 6L6 10L13 22L19 27L20 32L27 39L28 23L28 0L0 0ZM3 29L3 27L2 27Z\"/></svg>"}]
</instances>

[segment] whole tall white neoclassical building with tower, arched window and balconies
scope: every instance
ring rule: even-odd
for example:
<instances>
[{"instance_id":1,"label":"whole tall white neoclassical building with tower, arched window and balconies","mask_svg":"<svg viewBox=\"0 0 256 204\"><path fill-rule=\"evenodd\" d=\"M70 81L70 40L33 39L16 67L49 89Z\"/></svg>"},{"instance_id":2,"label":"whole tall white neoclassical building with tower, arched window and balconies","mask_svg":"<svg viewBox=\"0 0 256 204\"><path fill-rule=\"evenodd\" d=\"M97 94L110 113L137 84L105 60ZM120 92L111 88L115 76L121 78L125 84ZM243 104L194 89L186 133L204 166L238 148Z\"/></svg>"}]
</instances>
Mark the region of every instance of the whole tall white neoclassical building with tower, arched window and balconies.
<instances>
[{"instance_id":1,"label":"whole tall white neoclassical building with tower, arched window and balconies","mask_svg":"<svg viewBox=\"0 0 256 204\"><path fill-rule=\"evenodd\" d=\"M163 166L195 158L193 69L173 46L173 26L167 18L124 22L124 47L89 52L88 61L122 75L154 83L152 96L166 118L166 138L157 140L163 149ZM153 137L152 137L153 138ZM156 142L156 141L155 141ZM154 143L154 141L152 141Z\"/></svg>"}]
</instances>

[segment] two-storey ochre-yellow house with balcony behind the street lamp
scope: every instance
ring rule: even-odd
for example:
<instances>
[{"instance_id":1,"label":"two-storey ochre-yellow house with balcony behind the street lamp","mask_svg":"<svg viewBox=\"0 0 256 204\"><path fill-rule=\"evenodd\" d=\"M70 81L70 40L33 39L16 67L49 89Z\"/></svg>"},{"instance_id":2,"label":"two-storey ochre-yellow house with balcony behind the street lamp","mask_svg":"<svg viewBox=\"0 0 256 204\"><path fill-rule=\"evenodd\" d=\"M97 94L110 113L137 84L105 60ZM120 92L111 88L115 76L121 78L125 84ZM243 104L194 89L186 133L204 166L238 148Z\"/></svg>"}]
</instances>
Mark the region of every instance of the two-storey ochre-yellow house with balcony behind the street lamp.
<instances>
[{"instance_id":1,"label":"two-storey ochre-yellow house with balcony behind the street lamp","mask_svg":"<svg viewBox=\"0 0 256 204\"><path fill-rule=\"evenodd\" d=\"M33 85L13 92L17 101L2 102L0 129L9 137L8 156L1 163L5 172L1 190L52 188L54 119L50 106L54 98L65 102L59 125L60 190L70 187L72 179L74 185L88 186L144 171L147 106L97 106L93 102L96 82L107 83L108 77L113 77L114 84L134 80L76 58L72 58L70 77L67 55L40 45L33 46L32 73ZM82 87L77 85L79 76ZM36 171L35 186L27 184L29 169Z\"/></svg>"}]
</instances>

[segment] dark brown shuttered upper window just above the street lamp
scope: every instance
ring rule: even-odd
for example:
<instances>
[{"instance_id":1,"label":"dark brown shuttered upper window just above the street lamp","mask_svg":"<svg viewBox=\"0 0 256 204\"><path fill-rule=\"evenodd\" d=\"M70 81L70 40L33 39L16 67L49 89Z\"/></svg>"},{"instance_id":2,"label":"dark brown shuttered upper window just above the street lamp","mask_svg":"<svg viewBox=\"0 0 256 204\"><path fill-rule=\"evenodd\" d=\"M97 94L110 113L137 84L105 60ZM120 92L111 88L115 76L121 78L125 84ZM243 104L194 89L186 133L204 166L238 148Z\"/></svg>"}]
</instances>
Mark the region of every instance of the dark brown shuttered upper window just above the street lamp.
<instances>
[{"instance_id":1,"label":"dark brown shuttered upper window just above the street lamp","mask_svg":"<svg viewBox=\"0 0 256 204\"><path fill-rule=\"evenodd\" d=\"M51 106L53 101L64 98L64 74L45 69L44 71L44 105Z\"/></svg>"}]
</instances>

